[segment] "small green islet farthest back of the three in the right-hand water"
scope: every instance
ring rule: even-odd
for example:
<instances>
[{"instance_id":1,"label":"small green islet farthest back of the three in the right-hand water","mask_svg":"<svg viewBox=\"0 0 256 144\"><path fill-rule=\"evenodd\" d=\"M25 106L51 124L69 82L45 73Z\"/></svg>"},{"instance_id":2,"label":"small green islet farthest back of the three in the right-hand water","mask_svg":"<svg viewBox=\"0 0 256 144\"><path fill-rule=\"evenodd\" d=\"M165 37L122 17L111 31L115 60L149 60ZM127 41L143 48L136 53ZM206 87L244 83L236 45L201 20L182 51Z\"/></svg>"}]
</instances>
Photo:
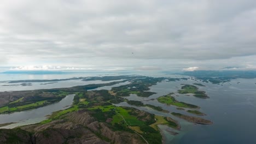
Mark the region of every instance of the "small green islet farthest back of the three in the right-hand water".
<instances>
[{"instance_id":1,"label":"small green islet farthest back of the three in the right-hand water","mask_svg":"<svg viewBox=\"0 0 256 144\"><path fill-rule=\"evenodd\" d=\"M209 98L204 91L198 91L198 88L192 85L182 86L182 89L178 90L178 93L181 93L181 94L192 93L197 98L202 98L202 99Z\"/></svg>"}]
</instances>

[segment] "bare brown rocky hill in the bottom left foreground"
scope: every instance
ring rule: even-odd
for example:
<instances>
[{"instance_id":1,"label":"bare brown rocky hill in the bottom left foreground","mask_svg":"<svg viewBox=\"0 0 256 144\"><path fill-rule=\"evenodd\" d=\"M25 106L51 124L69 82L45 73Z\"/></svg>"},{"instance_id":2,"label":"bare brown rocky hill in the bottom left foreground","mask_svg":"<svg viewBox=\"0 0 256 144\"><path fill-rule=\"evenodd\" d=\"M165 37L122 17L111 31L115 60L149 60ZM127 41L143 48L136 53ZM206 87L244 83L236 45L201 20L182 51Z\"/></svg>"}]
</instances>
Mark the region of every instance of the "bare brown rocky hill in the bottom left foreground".
<instances>
[{"instance_id":1,"label":"bare brown rocky hill in the bottom left foreground","mask_svg":"<svg viewBox=\"0 0 256 144\"><path fill-rule=\"evenodd\" d=\"M141 137L127 131L113 131L107 123L96 121L88 111L77 111L63 115L46 124L27 125L21 129L0 130L0 143L145 143ZM28 132L30 131L30 132ZM15 142L14 142L15 143Z\"/></svg>"}]
</instances>

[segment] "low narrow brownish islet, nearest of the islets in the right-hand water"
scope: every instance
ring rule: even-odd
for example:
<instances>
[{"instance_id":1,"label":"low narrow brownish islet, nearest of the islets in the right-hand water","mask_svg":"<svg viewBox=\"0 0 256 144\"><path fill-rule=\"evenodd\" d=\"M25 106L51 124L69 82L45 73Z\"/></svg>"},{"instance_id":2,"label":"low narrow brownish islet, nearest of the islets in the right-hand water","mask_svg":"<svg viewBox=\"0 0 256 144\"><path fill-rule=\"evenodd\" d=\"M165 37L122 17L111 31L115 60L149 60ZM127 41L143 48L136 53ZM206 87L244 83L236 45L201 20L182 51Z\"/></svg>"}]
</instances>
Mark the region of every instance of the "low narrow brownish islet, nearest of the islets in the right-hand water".
<instances>
[{"instance_id":1,"label":"low narrow brownish islet, nearest of the islets in the right-hand water","mask_svg":"<svg viewBox=\"0 0 256 144\"><path fill-rule=\"evenodd\" d=\"M185 119L188 122L192 122L192 123L198 123L198 124L213 124L213 122L207 120L207 119L203 119L200 117L191 117L191 116L187 116L187 115L182 115L181 113L176 113L176 112L172 112L171 113L173 116Z\"/></svg>"}]
</instances>

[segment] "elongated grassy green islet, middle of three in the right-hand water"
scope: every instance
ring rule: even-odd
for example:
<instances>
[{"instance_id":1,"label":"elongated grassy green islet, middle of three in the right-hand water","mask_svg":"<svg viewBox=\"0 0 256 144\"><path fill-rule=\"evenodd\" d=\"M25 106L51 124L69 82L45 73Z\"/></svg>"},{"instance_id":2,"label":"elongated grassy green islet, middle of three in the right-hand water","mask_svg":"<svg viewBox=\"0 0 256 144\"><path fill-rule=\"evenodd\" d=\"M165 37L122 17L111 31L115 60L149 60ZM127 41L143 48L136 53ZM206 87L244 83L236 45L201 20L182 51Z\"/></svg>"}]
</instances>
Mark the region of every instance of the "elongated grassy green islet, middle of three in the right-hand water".
<instances>
[{"instance_id":1,"label":"elongated grassy green islet, middle of three in the right-hand water","mask_svg":"<svg viewBox=\"0 0 256 144\"><path fill-rule=\"evenodd\" d=\"M199 106L196 106L196 105L179 102L171 95L161 96L158 98L158 101L159 101L159 103L162 103L162 104L174 105L174 106L178 106L178 107L187 107L187 108L191 108L191 109L199 109L200 108Z\"/></svg>"}]
</instances>

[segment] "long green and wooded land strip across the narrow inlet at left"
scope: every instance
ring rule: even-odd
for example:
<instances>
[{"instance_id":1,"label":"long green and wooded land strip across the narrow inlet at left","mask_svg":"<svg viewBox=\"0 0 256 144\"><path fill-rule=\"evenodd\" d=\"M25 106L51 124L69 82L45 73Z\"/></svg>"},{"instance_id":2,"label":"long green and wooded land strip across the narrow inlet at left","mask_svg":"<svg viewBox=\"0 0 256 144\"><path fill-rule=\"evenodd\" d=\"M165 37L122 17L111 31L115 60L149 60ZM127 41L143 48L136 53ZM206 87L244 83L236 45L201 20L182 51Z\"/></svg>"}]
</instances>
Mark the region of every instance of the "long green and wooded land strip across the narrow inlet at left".
<instances>
[{"instance_id":1,"label":"long green and wooded land strip across the narrow inlet at left","mask_svg":"<svg viewBox=\"0 0 256 144\"><path fill-rule=\"evenodd\" d=\"M56 103L61 99L65 98L68 94L72 94L75 92L84 92L88 89L94 89L103 86L111 86L125 81L128 80L90 84L85 86L75 86L70 88L0 92L0 114L36 109L38 107Z\"/></svg>"}]
</instances>

